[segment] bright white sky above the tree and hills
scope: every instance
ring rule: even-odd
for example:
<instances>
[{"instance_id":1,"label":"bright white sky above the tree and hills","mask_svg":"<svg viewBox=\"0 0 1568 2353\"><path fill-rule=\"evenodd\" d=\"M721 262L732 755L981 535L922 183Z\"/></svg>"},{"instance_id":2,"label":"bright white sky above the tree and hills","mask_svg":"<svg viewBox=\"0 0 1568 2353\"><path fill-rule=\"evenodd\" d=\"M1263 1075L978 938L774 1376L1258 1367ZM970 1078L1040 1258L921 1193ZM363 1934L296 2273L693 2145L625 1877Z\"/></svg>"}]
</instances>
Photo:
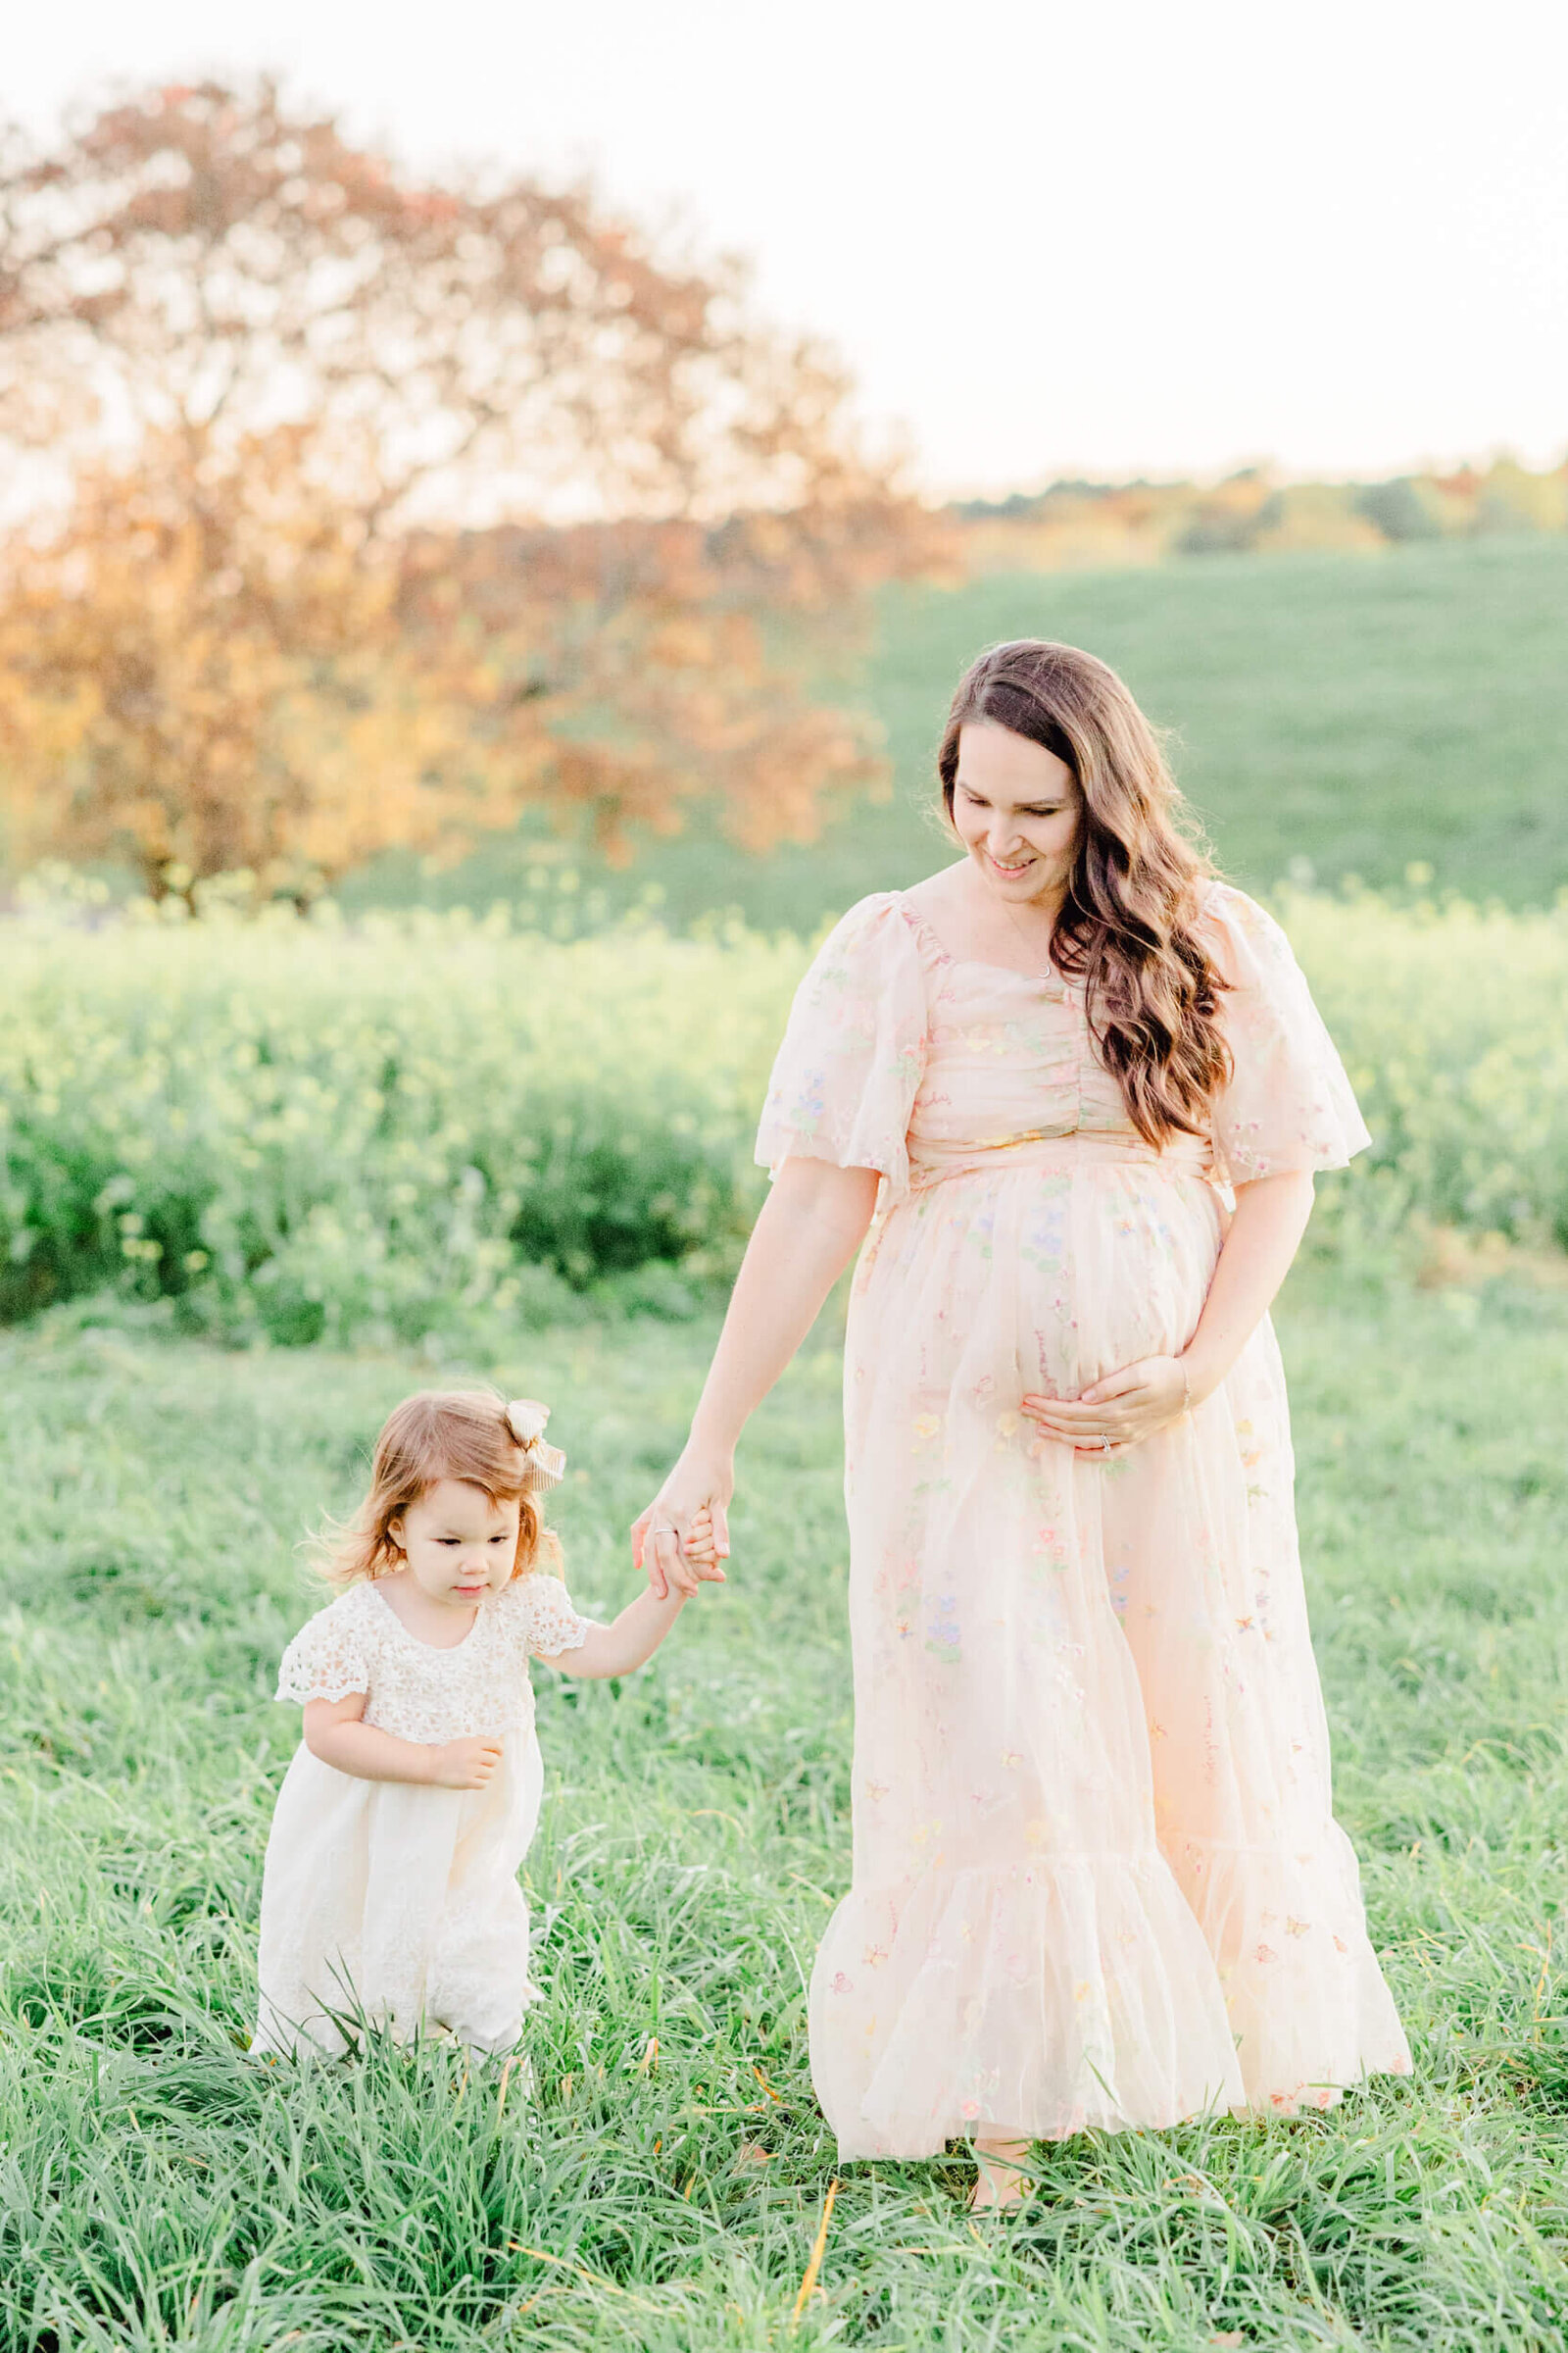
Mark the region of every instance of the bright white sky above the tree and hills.
<instances>
[{"instance_id":1,"label":"bright white sky above the tree and hills","mask_svg":"<svg viewBox=\"0 0 1568 2353\"><path fill-rule=\"evenodd\" d=\"M931 489L1568 447L1561 0L9 0L0 104L282 71L745 252Z\"/></svg>"}]
</instances>

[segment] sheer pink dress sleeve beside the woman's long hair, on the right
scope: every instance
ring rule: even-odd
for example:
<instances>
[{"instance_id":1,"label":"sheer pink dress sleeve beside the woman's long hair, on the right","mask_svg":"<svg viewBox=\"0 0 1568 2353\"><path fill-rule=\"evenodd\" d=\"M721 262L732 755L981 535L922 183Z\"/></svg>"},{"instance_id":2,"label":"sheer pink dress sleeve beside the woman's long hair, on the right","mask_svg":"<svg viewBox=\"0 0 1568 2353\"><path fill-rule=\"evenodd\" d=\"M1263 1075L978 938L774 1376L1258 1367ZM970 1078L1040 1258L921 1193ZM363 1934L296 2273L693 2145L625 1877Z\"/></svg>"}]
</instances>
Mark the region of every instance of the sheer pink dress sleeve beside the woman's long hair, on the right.
<instances>
[{"instance_id":1,"label":"sheer pink dress sleeve beside the woman's long hair, on the right","mask_svg":"<svg viewBox=\"0 0 1568 2353\"><path fill-rule=\"evenodd\" d=\"M1220 1019L1234 1056L1213 1101L1215 1174L1251 1184L1288 1169L1342 1169L1373 1139L1291 941L1255 899L1222 882L1204 915L1229 981Z\"/></svg>"}]
</instances>

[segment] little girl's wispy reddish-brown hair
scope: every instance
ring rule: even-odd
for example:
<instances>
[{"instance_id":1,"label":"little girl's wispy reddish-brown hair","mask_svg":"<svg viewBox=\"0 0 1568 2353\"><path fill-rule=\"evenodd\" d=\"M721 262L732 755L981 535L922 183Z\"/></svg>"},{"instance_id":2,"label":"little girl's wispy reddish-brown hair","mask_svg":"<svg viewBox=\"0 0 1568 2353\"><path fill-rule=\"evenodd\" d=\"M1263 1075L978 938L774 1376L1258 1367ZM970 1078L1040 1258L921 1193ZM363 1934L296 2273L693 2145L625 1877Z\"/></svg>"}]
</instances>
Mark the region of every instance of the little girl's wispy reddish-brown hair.
<instances>
[{"instance_id":1,"label":"little girl's wispy reddish-brown hair","mask_svg":"<svg viewBox=\"0 0 1568 2353\"><path fill-rule=\"evenodd\" d=\"M346 1525L317 1539L322 1574L334 1586L386 1577L404 1551L393 1520L418 1504L437 1480L480 1487L491 1504L520 1504L512 1577L548 1562L559 1567L559 1541L527 1492L529 1457L512 1438L505 1398L491 1388L421 1388L388 1414L371 1459L369 1494Z\"/></svg>"}]
</instances>

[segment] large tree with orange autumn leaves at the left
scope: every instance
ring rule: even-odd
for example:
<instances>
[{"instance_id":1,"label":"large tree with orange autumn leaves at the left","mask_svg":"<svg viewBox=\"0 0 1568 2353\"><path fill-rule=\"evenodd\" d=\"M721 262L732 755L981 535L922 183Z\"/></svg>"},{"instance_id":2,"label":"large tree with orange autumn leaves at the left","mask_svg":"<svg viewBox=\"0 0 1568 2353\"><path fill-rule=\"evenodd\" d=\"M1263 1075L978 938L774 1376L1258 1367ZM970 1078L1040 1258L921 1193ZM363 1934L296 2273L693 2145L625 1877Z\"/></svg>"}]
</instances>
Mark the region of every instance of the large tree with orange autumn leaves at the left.
<instances>
[{"instance_id":1,"label":"large tree with orange autumn leaves at the left","mask_svg":"<svg viewBox=\"0 0 1568 2353\"><path fill-rule=\"evenodd\" d=\"M522 807L809 838L825 631L931 560L842 376L585 191L418 184L270 82L0 146L12 854L308 896Z\"/></svg>"}]
</instances>

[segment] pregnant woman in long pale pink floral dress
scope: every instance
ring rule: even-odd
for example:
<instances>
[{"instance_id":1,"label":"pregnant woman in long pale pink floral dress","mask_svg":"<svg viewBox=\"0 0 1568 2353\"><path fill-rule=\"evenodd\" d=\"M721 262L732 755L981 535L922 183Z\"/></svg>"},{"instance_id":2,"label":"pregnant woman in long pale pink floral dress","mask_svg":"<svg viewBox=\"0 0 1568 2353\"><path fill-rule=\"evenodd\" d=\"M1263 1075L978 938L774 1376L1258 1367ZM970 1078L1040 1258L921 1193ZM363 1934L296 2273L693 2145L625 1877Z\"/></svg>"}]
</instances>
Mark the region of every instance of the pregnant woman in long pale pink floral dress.
<instances>
[{"instance_id":1,"label":"pregnant woman in long pale pink floral dress","mask_svg":"<svg viewBox=\"0 0 1568 2353\"><path fill-rule=\"evenodd\" d=\"M811 1981L844 2158L1293 2115L1406 2073L1331 1812L1267 1320L1368 1136L1284 932L1182 840L1105 664L1023 640L943 736L959 864L802 981L703 1504L860 1249L844 1365L853 1885ZM719 1522L722 1525L722 1522Z\"/></svg>"}]
</instances>

